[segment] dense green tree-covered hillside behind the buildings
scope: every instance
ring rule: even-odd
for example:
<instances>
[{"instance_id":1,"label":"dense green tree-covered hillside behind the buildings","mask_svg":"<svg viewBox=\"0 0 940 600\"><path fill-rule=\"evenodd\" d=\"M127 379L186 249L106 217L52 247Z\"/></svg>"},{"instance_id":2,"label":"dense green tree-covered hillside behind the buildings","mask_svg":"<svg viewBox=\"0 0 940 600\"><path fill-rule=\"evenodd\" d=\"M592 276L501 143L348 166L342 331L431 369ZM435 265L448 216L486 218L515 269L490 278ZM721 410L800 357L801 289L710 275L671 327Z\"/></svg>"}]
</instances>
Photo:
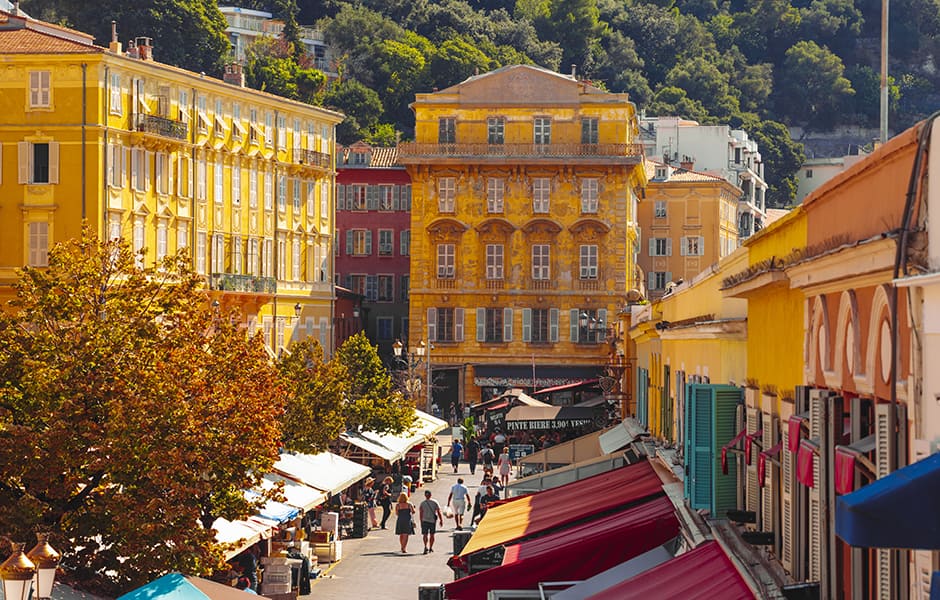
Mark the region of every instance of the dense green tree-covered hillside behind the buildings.
<instances>
[{"instance_id":1,"label":"dense green tree-covered hillside behind the buildings","mask_svg":"<svg viewBox=\"0 0 940 600\"><path fill-rule=\"evenodd\" d=\"M224 0L223 0L224 3ZM769 201L788 204L802 160L784 123L827 131L873 127L879 111L878 0L233 0L326 36L340 78L327 83L290 43L252 53L249 84L350 115L342 141L408 137L416 92L516 63L628 92L649 115L727 123L764 155ZM151 35L160 60L218 74L224 19L216 0L23 0L35 16L108 39ZM900 131L940 105L940 0L892 0L890 124ZM299 82L299 83L298 83Z\"/></svg>"}]
</instances>

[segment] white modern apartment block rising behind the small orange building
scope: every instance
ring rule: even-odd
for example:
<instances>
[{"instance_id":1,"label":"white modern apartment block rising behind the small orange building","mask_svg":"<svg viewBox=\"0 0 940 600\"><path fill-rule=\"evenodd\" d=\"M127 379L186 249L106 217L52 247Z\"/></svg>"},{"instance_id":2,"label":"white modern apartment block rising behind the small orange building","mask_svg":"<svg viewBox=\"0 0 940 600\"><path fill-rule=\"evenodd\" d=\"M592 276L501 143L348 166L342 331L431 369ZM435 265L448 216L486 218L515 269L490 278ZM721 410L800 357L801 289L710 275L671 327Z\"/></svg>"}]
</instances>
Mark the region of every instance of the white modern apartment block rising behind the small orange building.
<instances>
[{"instance_id":1,"label":"white modern apartment block rising behind the small orange building","mask_svg":"<svg viewBox=\"0 0 940 600\"><path fill-rule=\"evenodd\" d=\"M679 117L641 117L641 139L650 158L671 165L694 163L696 169L727 179L740 188L738 240L764 226L767 183L757 142L742 129L699 125Z\"/></svg>"}]
</instances>

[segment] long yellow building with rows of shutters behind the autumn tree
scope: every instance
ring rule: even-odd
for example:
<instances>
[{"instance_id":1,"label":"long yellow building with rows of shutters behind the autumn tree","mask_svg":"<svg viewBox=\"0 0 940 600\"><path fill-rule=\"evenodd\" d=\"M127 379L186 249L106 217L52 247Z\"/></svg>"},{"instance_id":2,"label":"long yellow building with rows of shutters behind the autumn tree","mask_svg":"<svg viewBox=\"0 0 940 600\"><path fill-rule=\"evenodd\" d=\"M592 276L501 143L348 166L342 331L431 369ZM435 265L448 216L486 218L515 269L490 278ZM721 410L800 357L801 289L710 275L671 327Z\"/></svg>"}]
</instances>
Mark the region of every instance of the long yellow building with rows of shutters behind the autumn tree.
<instances>
[{"instance_id":1,"label":"long yellow building with rows of shutters behind the autumn tree","mask_svg":"<svg viewBox=\"0 0 940 600\"><path fill-rule=\"evenodd\" d=\"M187 249L213 302L273 349L331 345L334 128L342 115L0 13L0 296L83 221L146 249ZM159 53L159 48L156 50Z\"/></svg>"}]
</instances>

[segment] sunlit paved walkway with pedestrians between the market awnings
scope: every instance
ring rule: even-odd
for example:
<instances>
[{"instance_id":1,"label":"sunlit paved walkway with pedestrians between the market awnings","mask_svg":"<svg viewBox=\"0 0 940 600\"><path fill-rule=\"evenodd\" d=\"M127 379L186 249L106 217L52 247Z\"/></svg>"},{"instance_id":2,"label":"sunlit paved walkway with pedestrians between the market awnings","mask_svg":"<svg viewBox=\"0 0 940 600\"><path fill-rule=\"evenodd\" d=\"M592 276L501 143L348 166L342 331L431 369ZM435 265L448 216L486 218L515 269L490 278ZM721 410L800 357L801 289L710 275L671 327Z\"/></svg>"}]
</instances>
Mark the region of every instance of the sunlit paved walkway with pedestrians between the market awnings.
<instances>
[{"instance_id":1,"label":"sunlit paved walkway with pedestrians between the market awnings","mask_svg":"<svg viewBox=\"0 0 940 600\"><path fill-rule=\"evenodd\" d=\"M438 436L442 448L450 447L449 436ZM423 484L412 495L415 507L424 500L424 490L430 489L432 498L443 509L450 487L462 476L464 483L474 489L482 478L482 471L477 470L473 478L467 463L461 463L459 473L454 475L450 461L445 455L437 481ZM393 507L394 509L394 507ZM379 516L382 511L379 509ZM417 519L416 519L417 521ZM361 539L343 540L343 558L333 565L323 565L323 574L313 580L309 599L329 600L415 600L418 597L418 584L447 583L454 580L453 571L447 566L447 559L453 553L451 537L454 520L444 518L444 527L438 529L434 542L434 552L422 554L424 544L420 533L411 536L408 542L408 554L401 553L398 536L394 531L395 516L389 518L387 530L373 529ZM418 524L420 528L420 523Z\"/></svg>"}]
</instances>

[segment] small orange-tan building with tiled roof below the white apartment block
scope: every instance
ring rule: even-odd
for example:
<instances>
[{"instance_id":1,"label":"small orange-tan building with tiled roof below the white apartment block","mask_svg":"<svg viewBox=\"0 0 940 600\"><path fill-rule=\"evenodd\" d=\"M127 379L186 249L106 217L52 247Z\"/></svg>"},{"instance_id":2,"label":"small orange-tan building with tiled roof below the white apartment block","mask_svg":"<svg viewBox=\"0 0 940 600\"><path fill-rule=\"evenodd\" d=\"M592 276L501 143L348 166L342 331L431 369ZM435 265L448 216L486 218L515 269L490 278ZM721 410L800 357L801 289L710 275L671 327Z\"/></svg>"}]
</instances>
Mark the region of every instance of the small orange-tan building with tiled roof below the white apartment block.
<instances>
[{"instance_id":1,"label":"small orange-tan building with tiled roof below the white apartment block","mask_svg":"<svg viewBox=\"0 0 940 600\"><path fill-rule=\"evenodd\" d=\"M638 262L651 299L671 281L689 281L738 247L741 190L728 180L646 161L649 184L639 207L645 238Z\"/></svg>"}]
</instances>

